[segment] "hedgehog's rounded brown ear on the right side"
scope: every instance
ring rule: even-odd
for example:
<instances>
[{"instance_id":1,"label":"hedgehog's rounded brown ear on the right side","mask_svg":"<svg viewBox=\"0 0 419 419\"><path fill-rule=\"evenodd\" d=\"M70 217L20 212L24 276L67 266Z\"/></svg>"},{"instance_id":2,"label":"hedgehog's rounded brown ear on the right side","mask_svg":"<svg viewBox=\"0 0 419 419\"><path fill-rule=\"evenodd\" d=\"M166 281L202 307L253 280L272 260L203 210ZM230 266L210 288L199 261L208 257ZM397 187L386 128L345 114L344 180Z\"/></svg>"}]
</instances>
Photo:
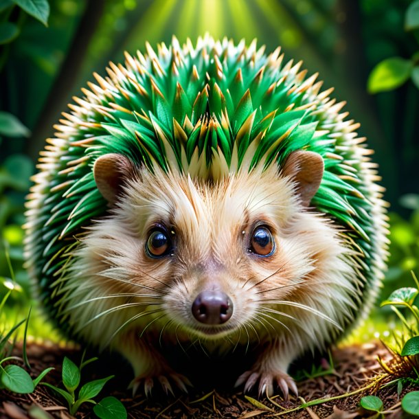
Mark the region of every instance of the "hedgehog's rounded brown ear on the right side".
<instances>
[{"instance_id":1,"label":"hedgehog's rounded brown ear on the right side","mask_svg":"<svg viewBox=\"0 0 419 419\"><path fill-rule=\"evenodd\" d=\"M324 161L321 155L312 151L291 152L284 163L282 173L296 183L302 204L310 205L323 179Z\"/></svg>"}]
</instances>

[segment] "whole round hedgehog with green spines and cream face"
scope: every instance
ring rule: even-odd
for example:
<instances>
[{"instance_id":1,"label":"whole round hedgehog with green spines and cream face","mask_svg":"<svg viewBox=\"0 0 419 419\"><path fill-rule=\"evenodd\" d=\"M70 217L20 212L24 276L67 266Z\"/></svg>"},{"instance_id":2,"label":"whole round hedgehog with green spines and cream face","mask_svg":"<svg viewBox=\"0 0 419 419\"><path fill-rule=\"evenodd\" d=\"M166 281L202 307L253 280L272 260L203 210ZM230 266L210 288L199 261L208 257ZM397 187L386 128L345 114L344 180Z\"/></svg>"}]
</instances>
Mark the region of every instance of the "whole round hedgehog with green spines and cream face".
<instances>
[{"instance_id":1,"label":"whole round hedgehog with green spines and cream face","mask_svg":"<svg viewBox=\"0 0 419 419\"><path fill-rule=\"evenodd\" d=\"M367 315L387 218L372 151L302 62L256 41L125 53L41 151L25 255L71 339L122 354L133 387L186 391L163 348L246 348L245 392ZM163 343L163 344L162 344Z\"/></svg>"}]
</instances>

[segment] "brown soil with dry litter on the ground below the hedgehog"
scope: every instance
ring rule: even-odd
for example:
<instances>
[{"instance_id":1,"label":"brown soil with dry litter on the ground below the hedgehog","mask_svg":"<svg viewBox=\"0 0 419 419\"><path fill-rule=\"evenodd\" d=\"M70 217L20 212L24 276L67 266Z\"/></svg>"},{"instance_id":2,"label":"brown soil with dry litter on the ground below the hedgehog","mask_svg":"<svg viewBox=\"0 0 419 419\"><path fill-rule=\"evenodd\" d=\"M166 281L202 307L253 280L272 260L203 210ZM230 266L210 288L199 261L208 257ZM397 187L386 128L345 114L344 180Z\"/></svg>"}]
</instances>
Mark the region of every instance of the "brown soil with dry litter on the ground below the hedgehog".
<instances>
[{"instance_id":1,"label":"brown soil with dry litter on the ground below the hedgehog","mask_svg":"<svg viewBox=\"0 0 419 419\"><path fill-rule=\"evenodd\" d=\"M22 350L19 346L15 348L15 354L21 355ZM44 379L54 385L60 385L61 370L64 356L69 356L76 363L80 361L81 351L77 348L62 348L52 344L31 343L27 348L27 355L32 365L30 374L37 376L42 370L52 365L52 370ZM270 418L282 413L280 417L310 418L310 419L356 419L376 417L359 407L359 400L367 394L375 394L383 400L385 411L388 412L385 418L407 418L403 416L400 408L400 398L397 394L396 385L383 386L394 379L383 372L377 362L377 356L381 359L391 359L392 356L381 345L381 343L369 343L363 346L346 346L332 351L332 360L335 365L330 368L326 359L321 359L320 365L328 368L323 370L321 376L304 378L298 381L299 398L291 396L289 400L283 400L282 396L274 396L271 400L258 398L256 394L251 394L251 398L238 392L223 390L223 386L216 386L215 389L205 388L190 390L189 394L179 394L175 396L163 395L163 392L153 390L151 398L146 398L144 394L132 396L126 389L131 377L128 367L121 367L119 362L112 362L112 359L96 361L85 367L82 372L82 381L102 378L115 374L115 378L106 384L101 394L100 400L104 396L115 396L122 401L128 411L128 418ZM101 357L102 358L102 357ZM94 364L94 367L91 365ZM117 364L117 365L115 365ZM23 363L20 364L23 366ZM299 373L301 376L301 372ZM378 381L376 383L376 381ZM223 379L220 378L220 382ZM370 387L362 391L363 387ZM345 394L361 392L352 396ZM409 388L403 389L401 397ZM331 398L343 396L335 400L330 400L319 405L298 409L286 413L287 409L299 407L302 403L319 398ZM256 399L259 400L256 401ZM261 404L260 404L261 403ZM92 405L84 404L80 407L77 418L95 418ZM47 418L71 418L65 407L64 400L54 393L52 389L44 385L38 385L32 394L13 394L0 390L0 418L12 419L47 419Z\"/></svg>"}]
</instances>

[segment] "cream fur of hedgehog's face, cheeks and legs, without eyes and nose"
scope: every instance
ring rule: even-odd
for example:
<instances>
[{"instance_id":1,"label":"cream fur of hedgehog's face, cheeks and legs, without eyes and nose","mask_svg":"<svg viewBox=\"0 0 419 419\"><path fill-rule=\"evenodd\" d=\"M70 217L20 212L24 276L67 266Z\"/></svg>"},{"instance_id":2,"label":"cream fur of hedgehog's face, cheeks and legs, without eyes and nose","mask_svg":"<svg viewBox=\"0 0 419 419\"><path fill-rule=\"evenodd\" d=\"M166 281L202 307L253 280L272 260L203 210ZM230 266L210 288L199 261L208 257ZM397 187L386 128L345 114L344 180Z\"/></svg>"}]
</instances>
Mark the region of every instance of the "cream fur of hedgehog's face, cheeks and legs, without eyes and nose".
<instances>
[{"instance_id":1,"label":"cream fur of hedgehog's face, cheeks and legs, without eyes and nose","mask_svg":"<svg viewBox=\"0 0 419 419\"><path fill-rule=\"evenodd\" d=\"M57 281L60 310L84 340L122 352L137 378L172 371L150 343L156 337L199 339L225 351L271 342L256 370L285 374L296 356L323 348L352 321L360 297L356 255L339 228L302 207L293 191L292 179L274 166L216 183L139 171L69 258L71 268ZM259 221L275 238L269 258L247 250ZM163 259L144 250L156 222L174 231L173 255ZM207 328L192 316L192 302L206 288L233 301L226 324Z\"/></svg>"}]
</instances>

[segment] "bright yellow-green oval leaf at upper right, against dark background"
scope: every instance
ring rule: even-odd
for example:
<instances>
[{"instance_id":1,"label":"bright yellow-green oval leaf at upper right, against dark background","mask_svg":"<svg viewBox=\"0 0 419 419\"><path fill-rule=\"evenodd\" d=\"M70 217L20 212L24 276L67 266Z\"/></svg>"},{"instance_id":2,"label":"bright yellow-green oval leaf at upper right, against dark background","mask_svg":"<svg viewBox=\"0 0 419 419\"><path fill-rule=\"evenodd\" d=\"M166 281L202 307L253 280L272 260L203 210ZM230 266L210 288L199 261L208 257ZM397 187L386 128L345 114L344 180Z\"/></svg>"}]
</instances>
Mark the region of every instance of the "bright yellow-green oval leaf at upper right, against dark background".
<instances>
[{"instance_id":1,"label":"bright yellow-green oval leaf at upper right, against dark background","mask_svg":"<svg viewBox=\"0 0 419 419\"><path fill-rule=\"evenodd\" d=\"M411 74L413 63L400 57L387 58L370 73L367 89L370 93L389 91L401 86Z\"/></svg>"}]
</instances>

